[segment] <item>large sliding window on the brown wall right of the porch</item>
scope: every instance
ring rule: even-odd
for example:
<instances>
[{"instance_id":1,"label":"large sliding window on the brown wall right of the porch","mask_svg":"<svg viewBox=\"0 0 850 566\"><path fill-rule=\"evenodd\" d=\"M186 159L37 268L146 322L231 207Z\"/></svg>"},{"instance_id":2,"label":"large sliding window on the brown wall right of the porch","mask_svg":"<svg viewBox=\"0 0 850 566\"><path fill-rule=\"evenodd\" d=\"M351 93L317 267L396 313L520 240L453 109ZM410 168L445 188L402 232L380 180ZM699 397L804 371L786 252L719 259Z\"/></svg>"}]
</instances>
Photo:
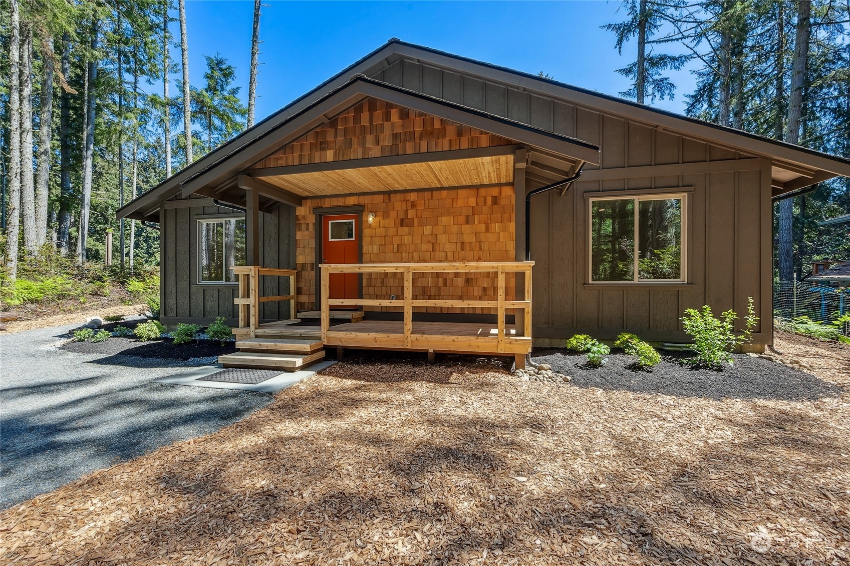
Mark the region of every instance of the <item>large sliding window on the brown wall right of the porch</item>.
<instances>
[{"instance_id":1,"label":"large sliding window on the brown wall right of the porch","mask_svg":"<svg viewBox=\"0 0 850 566\"><path fill-rule=\"evenodd\" d=\"M684 195L590 199L591 282L683 281Z\"/></svg>"}]
</instances>

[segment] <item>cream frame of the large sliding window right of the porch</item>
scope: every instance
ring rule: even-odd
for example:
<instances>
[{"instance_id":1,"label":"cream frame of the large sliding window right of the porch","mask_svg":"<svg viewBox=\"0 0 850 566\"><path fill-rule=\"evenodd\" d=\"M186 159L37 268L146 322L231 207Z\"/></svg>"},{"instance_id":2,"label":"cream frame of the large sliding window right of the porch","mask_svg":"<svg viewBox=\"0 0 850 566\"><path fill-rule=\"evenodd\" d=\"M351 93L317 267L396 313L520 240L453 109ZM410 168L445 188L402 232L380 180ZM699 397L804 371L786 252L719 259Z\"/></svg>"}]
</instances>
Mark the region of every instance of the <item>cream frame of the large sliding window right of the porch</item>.
<instances>
[{"instance_id":1,"label":"cream frame of the large sliding window right of the porch","mask_svg":"<svg viewBox=\"0 0 850 566\"><path fill-rule=\"evenodd\" d=\"M644 193L638 195L624 195L622 193L615 193L611 195L593 195L587 198L587 280L593 285L643 285L643 284L653 284L653 283L685 283L688 278L688 195L689 193L683 192L671 192L671 193ZM679 258L679 275L681 277L679 279L638 279L640 276L640 270L638 269L638 260L640 259L638 256L638 241L640 239L640 235L638 234L638 213L639 206L638 203L640 201L666 201L671 199L679 199L682 201L682 206L680 207L680 215L679 219L679 239L681 241L681 256ZM594 281L593 280L593 202L594 201L635 201L634 206L634 240L635 240L635 254L634 254L634 269L633 269L633 279L631 281Z\"/></svg>"}]
</instances>

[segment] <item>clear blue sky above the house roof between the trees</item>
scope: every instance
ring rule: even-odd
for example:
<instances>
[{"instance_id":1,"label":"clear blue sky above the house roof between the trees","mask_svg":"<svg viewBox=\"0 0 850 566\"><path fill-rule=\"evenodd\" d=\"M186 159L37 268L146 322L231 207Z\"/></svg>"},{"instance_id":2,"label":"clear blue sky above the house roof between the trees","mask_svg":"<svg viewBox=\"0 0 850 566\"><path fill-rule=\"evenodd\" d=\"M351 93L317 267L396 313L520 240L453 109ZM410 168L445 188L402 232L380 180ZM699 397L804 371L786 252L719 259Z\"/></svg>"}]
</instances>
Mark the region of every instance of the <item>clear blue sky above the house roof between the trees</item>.
<instances>
[{"instance_id":1,"label":"clear blue sky above the house roof between the trees","mask_svg":"<svg viewBox=\"0 0 850 566\"><path fill-rule=\"evenodd\" d=\"M556 80L603 93L626 90L616 69L623 55L614 36L600 25L625 19L620 2L283 2L263 0L260 20L260 74L257 121L296 99L382 45L390 37L519 71L545 71ZM177 10L173 10L177 18ZM236 84L247 99L251 61L251 0L189 0L190 82L200 86L204 55L217 52L236 67ZM172 26L179 40L179 27ZM179 49L172 50L179 62ZM682 111L693 90L688 71L669 74L678 89L672 101L657 102ZM179 71L172 79L179 78ZM174 84L174 83L173 83ZM172 88L175 88L174 86Z\"/></svg>"}]
</instances>

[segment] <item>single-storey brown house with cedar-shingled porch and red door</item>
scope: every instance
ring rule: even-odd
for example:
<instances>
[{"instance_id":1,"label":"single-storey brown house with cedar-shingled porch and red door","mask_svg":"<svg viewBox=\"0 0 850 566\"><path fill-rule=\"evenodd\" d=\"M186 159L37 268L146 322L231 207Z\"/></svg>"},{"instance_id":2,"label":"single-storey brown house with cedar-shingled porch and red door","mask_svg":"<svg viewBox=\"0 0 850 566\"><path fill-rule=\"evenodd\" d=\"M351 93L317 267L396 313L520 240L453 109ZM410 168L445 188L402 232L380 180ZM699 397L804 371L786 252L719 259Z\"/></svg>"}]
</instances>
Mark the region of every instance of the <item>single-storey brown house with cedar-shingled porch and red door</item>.
<instances>
[{"instance_id":1,"label":"single-storey brown house with cedar-shingled porch and red door","mask_svg":"<svg viewBox=\"0 0 850 566\"><path fill-rule=\"evenodd\" d=\"M227 365L336 346L519 366L579 332L686 342L685 308L748 297L770 343L773 201L839 175L850 160L392 39L118 216L160 226L164 324L238 326Z\"/></svg>"}]
</instances>

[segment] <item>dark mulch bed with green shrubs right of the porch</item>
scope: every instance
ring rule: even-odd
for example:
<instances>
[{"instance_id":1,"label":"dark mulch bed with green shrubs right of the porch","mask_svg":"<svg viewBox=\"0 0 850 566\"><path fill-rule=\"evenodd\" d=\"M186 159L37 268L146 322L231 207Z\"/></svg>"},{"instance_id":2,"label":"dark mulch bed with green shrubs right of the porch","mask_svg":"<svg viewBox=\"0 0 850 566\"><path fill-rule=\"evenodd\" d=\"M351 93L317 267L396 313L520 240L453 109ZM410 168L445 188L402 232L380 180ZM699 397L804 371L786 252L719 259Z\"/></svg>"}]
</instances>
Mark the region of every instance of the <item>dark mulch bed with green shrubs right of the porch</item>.
<instances>
[{"instance_id":1,"label":"dark mulch bed with green shrubs right of the porch","mask_svg":"<svg viewBox=\"0 0 850 566\"><path fill-rule=\"evenodd\" d=\"M685 363L685 353L661 352L661 363L650 371L635 367L635 358L612 353L598 368L587 365L585 354L564 349L536 349L532 359L550 364L553 371L572 377L572 384L584 388L661 393L677 397L708 399L783 399L799 401L838 397L843 388L818 377L769 359L734 354L734 365L722 370Z\"/></svg>"}]
</instances>

